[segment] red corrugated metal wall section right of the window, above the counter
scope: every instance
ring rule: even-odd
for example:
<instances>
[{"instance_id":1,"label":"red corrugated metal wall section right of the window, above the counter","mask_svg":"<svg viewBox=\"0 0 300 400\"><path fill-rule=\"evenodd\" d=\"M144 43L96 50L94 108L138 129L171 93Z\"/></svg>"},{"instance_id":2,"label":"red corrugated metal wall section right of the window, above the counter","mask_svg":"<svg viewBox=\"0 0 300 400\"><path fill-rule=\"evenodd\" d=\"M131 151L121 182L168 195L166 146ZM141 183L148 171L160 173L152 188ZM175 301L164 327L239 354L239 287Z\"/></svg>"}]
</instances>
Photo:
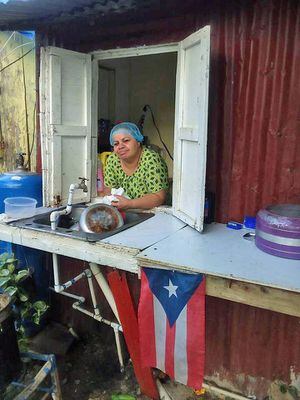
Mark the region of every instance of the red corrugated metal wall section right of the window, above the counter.
<instances>
[{"instance_id":1,"label":"red corrugated metal wall section right of the window, above the counter","mask_svg":"<svg viewBox=\"0 0 300 400\"><path fill-rule=\"evenodd\" d=\"M221 222L300 201L299 18L299 2L256 1L213 25L207 181Z\"/></svg>"}]
</instances>

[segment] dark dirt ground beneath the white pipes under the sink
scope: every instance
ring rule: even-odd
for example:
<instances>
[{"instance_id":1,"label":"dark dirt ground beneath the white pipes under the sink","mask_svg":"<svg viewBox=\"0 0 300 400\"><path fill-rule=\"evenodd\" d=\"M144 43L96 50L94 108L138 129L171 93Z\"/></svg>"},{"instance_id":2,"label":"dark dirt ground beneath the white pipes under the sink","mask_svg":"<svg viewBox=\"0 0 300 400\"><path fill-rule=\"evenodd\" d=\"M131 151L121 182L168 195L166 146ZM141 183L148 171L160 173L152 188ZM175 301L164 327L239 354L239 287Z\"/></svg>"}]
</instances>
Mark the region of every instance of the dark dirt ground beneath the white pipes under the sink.
<instances>
[{"instance_id":1,"label":"dark dirt ground beneath the white pipes under the sink","mask_svg":"<svg viewBox=\"0 0 300 400\"><path fill-rule=\"evenodd\" d=\"M111 338L88 335L76 341L65 357L58 357L63 400L110 400L113 394L141 395L130 362L120 372Z\"/></svg>"}]
</instances>

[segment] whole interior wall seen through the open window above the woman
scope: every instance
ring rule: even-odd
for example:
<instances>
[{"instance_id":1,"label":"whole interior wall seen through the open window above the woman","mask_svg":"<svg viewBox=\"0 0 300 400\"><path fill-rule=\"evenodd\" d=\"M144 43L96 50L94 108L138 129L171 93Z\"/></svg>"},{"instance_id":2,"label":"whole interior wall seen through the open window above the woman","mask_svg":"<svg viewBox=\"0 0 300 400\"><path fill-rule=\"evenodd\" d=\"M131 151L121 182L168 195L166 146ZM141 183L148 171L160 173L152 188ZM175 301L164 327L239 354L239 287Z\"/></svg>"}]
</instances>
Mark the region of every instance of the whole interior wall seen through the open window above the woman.
<instances>
[{"instance_id":1,"label":"whole interior wall seen through the open window above the woman","mask_svg":"<svg viewBox=\"0 0 300 400\"><path fill-rule=\"evenodd\" d=\"M149 104L161 136L173 154L176 63L176 53L101 61L99 118L106 118L108 115L112 122L137 123L144 105ZM111 89L107 87L109 85L107 73L101 67L115 72L115 82L111 80L110 83L110 87L114 85L115 96L109 95ZM108 110L114 110L114 114ZM169 176L172 177L173 163L159 140L150 111L146 114L144 135L148 137L151 145L162 149L161 155L168 165Z\"/></svg>"}]
</instances>

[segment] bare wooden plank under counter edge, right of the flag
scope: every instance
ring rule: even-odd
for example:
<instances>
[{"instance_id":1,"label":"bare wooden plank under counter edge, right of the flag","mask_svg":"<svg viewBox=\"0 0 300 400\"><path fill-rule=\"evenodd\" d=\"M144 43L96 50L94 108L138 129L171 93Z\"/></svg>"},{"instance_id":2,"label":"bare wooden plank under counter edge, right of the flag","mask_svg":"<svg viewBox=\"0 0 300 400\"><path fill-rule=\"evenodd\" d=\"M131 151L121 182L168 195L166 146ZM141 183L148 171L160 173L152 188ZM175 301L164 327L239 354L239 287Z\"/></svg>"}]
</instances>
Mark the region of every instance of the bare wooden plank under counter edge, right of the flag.
<instances>
[{"instance_id":1,"label":"bare wooden plank under counter edge, right of the flag","mask_svg":"<svg viewBox=\"0 0 300 400\"><path fill-rule=\"evenodd\" d=\"M207 276L206 294L300 317L300 293Z\"/></svg>"}]
</instances>

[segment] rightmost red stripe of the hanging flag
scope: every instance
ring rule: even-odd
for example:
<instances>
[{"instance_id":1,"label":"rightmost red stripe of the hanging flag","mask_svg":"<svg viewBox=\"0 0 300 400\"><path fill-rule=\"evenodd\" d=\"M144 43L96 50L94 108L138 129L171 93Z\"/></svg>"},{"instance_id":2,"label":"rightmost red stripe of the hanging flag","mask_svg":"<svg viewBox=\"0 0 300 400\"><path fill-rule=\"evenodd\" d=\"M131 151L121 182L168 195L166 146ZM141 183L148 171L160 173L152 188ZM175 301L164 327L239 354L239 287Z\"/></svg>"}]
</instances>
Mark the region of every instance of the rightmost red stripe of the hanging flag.
<instances>
[{"instance_id":1,"label":"rightmost red stripe of the hanging flag","mask_svg":"<svg viewBox=\"0 0 300 400\"><path fill-rule=\"evenodd\" d=\"M187 385L201 389L205 362L205 278L187 307Z\"/></svg>"}]
</instances>

